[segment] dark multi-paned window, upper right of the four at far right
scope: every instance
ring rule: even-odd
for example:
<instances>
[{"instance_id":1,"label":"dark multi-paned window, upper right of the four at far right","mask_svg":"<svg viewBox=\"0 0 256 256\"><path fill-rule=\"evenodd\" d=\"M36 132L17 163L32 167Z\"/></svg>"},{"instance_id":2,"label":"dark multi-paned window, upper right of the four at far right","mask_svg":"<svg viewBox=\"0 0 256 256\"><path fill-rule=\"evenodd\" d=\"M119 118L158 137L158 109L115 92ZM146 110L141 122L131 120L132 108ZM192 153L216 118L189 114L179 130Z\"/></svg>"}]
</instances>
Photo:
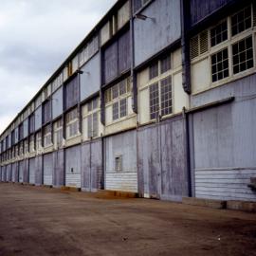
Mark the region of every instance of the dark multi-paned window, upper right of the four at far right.
<instances>
[{"instance_id":1,"label":"dark multi-paned window, upper right of the four at far right","mask_svg":"<svg viewBox=\"0 0 256 256\"><path fill-rule=\"evenodd\" d=\"M240 10L231 16L231 31L232 36L241 33L251 27L251 8L250 6Z\"/></svg>"}]
</instances>

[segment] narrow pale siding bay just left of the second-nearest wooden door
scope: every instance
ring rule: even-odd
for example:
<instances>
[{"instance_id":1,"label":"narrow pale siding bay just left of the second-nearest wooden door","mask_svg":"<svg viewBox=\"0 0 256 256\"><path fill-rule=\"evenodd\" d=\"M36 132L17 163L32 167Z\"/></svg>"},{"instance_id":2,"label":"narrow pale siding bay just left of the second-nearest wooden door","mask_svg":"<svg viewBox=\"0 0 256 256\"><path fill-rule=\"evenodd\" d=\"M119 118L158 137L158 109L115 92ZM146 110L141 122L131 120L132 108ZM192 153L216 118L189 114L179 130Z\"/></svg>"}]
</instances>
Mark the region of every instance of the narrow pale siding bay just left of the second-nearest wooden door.
<instances>
[{"instance_id":1,"label":"narrow pale siding bay just left of the second-nearest wooden door","mask_svg":"<svg viewBox=\"0 0 256 256\"><path fill-rule=\"evenodd\" d=\"M65 150L65 185L81 188L81 146Z\"/></svg>"}]
</instances>

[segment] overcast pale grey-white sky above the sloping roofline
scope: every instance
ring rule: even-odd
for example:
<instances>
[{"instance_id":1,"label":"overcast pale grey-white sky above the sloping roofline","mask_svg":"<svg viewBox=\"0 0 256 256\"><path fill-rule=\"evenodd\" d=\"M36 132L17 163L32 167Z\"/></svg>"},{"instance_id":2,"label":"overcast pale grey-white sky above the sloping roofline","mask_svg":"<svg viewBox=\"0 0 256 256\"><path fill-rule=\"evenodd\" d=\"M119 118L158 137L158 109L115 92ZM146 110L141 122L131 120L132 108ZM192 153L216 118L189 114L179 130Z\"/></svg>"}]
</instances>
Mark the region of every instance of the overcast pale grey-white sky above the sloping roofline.
<instances>
[{"instance_id":1,"label":"overcast pale grey-white sky above the sloping roofline","mask_svg":"<svg viewBox=\"0 0 256 256\"><path fill-rule=\"evenodd\" d=\"M116 0L0 0L0 133Z\"/></svg>"}]
</instances>

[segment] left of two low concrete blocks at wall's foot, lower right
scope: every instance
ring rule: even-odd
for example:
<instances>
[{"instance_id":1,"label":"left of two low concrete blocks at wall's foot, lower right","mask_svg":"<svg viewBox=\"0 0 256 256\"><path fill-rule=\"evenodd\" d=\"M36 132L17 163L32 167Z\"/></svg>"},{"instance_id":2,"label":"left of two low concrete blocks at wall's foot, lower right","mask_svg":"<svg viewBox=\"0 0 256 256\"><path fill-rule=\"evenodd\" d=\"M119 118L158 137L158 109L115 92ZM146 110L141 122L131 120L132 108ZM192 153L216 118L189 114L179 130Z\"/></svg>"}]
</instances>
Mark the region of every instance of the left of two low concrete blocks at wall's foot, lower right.
<instances>
[{"instance_id":1,"label":"left of two low concrete blocks at wall's foot, lower right","mask_svg":"<svg viewBox=\"0 0 256 256\"><path fill-rule=\"evenodd\" d=\"M195 197L182 197L182 203L191 206L210 207L214 209L226 209L227 202L222 200L202 199Z\"/></svg>"}]
</instances>

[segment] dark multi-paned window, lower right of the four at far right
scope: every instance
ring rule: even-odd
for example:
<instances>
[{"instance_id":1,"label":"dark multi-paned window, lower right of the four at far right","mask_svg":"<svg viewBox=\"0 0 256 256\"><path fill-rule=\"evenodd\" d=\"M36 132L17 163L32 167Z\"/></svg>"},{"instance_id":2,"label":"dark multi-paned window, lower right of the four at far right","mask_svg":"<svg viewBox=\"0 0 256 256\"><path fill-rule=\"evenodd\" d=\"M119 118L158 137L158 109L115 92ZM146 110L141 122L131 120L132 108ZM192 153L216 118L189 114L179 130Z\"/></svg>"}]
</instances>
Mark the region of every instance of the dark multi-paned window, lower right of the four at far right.
<instances>
[{"instance_id":1,"label":"dark multi-paned window, lower right of the four at far right","mask_svg":"<svg viewBox=\"0 0 256 256\"><path fill-rule=\"evenodd\" d=\"M247 37L232 46L233 73L245 71L253 67L252 38Z\"/></svg>"}]
</instances>

